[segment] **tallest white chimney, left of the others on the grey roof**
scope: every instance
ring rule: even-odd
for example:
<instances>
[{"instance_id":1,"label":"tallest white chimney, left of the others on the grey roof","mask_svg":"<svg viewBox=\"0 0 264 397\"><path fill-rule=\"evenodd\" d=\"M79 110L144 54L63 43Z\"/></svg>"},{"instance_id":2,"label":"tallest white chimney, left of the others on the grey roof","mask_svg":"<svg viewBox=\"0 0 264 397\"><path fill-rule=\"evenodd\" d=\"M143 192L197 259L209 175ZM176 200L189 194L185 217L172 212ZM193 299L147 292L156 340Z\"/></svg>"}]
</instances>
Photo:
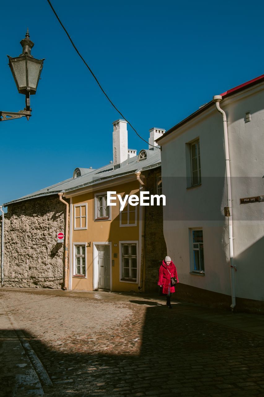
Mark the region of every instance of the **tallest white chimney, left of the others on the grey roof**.
<instances>
[{"instance_id":1,"label":"tallest white chimney, left of the others on the grey roof","mask_svg":"<svg viewBox=\"0 0 264 397\"><path fill-rule=\"evenodd\" d=\"M128 159L127 122L119 119L113 122L113 164L119 168Z\"/></svg>"}]
</instances>

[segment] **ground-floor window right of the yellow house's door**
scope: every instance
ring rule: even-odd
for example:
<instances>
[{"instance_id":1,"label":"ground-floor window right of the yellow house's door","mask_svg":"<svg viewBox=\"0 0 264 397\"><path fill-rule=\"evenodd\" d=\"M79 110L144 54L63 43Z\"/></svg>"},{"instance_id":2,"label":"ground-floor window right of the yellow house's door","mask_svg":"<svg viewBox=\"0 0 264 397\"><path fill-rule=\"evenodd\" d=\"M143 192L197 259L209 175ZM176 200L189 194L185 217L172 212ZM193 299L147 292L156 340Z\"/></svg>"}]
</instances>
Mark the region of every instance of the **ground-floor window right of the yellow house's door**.
<instances>
[{"instance_id":1,"label":"ground-floor window right of the yellow house's door","mask_svg":"<svg viewBox=\"0 0 264 397\"><path fill-rule=\"evenodd\" d=\"M136 282L138 277L138 258L136 243L121 243L122 280Z\"/></svg>"}]
</instances>

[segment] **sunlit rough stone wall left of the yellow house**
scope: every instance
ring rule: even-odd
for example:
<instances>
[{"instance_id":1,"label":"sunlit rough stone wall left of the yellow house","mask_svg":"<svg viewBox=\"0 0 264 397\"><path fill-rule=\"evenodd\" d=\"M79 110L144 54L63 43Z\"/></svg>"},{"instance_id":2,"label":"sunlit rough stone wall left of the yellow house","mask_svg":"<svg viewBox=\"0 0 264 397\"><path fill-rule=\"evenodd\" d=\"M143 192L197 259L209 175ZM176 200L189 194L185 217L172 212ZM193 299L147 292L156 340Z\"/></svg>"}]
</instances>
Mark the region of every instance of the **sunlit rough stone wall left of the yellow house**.
<instances>
[{"instance_id":1,"label":"sunlit rough stone wall left of the yellow house","mask_svg":"<svg viewBox=\"0 0 264 397\"><path fill-rule=\"evenodd\" d=\"M57 243L57 232L65 233L65 214L66 205L58 195L8 206L4 221L5 287L63 287L64 244Z\"/></svg>"}]
</instances>

